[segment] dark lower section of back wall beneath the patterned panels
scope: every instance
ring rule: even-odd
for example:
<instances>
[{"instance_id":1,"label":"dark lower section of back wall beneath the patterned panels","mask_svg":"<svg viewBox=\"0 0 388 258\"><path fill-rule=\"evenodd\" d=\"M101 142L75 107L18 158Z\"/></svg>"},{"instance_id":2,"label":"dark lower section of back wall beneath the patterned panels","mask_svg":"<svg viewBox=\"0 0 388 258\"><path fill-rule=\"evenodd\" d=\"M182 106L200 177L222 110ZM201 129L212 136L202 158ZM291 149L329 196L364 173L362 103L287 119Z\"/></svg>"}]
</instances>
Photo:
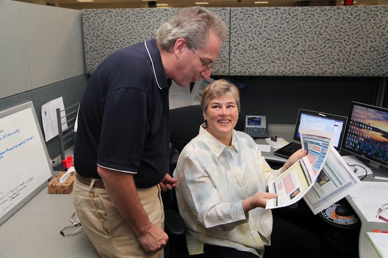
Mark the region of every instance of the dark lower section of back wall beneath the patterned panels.
<instances>
[{"instance_id":1,"label":"dark lower section of back wall beneath the patterned panels","mask_svg":"<svg viewBox=\"0 0 388 258\"><path fill-rule=\"evenodd\" d=\"M214 78L221 77L224 76L214 76ZM226 78L236 79L228 76ZM360 76L248 76L246 78L247 88L240 90L242 114L266 115L267 122L270 124L290 125L296 123L299 108L347 117L352 101L376 103L381 80L380 77ZM240 119L245 117L240 116Z\"/></svg>"}]
</instances>

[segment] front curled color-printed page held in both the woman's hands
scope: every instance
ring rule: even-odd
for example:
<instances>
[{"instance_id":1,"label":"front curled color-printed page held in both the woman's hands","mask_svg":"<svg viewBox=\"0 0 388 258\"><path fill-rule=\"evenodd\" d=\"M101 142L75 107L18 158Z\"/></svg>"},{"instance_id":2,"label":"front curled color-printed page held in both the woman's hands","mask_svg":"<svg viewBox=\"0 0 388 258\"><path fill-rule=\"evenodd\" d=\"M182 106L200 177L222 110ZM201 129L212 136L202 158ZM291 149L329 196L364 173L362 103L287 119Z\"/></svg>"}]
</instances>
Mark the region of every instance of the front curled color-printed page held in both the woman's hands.
<instances>
[{"instance_id":1,"label":"front curled color-printed page held in both the woman's hands","mask_svg":"<svg viewBox=\"0 0 388 258\"><path fill-rule=\"evenodd\" d=\"M307 155L269 182L268 192L279 196L269 199L266 209L291 205L313 187L332 147L332 137L332 132L300 129L302 149L307 149Z\"/></svg>"}]
</instances>

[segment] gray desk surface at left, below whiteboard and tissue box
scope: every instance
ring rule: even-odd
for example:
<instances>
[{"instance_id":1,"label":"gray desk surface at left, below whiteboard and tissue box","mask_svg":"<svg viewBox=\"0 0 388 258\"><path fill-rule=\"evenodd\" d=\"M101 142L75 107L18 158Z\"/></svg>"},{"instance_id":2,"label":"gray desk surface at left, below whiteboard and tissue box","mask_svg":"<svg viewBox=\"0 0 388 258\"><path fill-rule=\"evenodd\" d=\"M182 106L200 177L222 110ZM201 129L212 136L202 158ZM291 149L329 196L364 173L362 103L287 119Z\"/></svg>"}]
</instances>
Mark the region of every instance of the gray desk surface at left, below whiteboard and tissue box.
<instances>
[{"instance_id":1,"label":"gray desk surface at left, below whiteboard and tissue box","mask_svg":"<svg viewBox=\"0 0 388 258\"><path fill-rule=\"evenodd\" d=\"M73 211L72 194L49 194L44 188L1 224L0 257L99 257L85 232L60 234L72 225Z\"/></svg>"}]
</instances>

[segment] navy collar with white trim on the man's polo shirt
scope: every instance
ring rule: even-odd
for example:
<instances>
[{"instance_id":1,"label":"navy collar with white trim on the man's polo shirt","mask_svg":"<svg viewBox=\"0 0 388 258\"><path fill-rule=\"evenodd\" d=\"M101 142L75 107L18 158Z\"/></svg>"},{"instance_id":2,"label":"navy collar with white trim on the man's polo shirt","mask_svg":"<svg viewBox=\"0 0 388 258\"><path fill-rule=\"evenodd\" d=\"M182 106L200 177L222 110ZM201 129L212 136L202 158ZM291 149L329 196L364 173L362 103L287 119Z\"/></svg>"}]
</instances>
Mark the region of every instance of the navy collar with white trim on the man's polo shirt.
<instances>
[{"instance_id":1,"label":"navy collar with white trim on the man's polo shirt","mask_svg":"<svg viewBox=\"0 0 388 258\"><path fill-rule=\"evenodd\" d=\"M160 51L156 45L155 38L145 40L144 46L150 58L156 84L158 85L159 89L169 88L172 81L166 77L166 71L164 70L162 58L160 57Z\"/></svg>"}]
</instances>

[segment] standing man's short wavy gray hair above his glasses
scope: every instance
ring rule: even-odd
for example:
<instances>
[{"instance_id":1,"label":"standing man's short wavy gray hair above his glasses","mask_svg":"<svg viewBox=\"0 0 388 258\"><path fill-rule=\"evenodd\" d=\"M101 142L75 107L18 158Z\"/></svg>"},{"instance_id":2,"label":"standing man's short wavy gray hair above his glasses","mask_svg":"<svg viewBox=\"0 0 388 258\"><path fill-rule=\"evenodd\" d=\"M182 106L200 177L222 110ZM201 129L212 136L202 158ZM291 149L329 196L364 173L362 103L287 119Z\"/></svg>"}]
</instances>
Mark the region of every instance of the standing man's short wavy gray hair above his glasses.
<instances>
[{"instance_id":1,"label":"standing man's short wavy gray hair above his glasses","mask_svg":"<svg viewBox=\"0 0 388 258\"><path fill-rule=\"evenodd\" d=\"M163 23L155 37L159 46L167 52L174 49L179 38L186 39L190 48L204 49L209 30L213 30L221 42L228 36L225 23L217 15L203 7L194 6L184 8Z\"/></svg>"}]
</instances>

